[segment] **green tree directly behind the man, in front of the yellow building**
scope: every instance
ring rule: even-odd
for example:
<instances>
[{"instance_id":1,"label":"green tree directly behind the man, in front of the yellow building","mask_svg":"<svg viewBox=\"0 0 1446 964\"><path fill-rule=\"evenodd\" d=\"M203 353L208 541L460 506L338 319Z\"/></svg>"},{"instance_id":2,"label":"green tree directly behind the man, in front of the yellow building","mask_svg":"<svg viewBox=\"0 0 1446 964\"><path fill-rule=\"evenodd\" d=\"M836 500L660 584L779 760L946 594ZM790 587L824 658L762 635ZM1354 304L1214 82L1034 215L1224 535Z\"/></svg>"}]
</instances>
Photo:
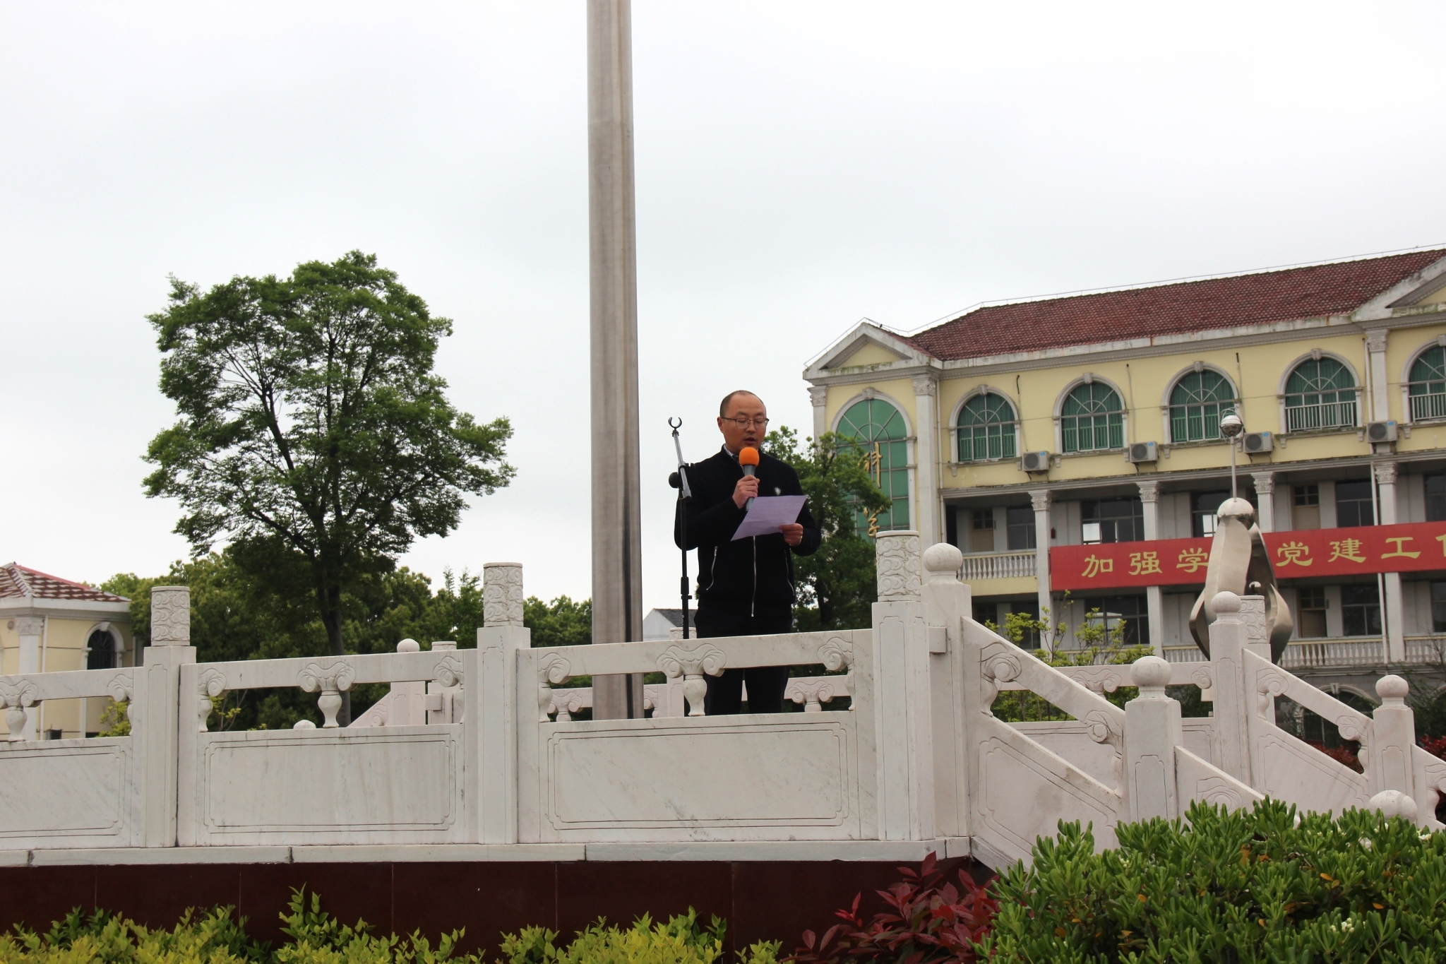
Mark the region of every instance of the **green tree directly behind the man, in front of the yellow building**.
<instances>
[{"instance_id":1,"label":"green tree directly behind the man, in front of the yellow building","mask_svg":"<svg viewBox=\"0 0 1446 964\"><path fill-rule=\"evenodd\" d=\"M798 435L788 426L765 439L769 455L798 471L808 510L823 533L817 552L794 556L798 578L794 621L800 632L865 629L872 623L878 585L873 539L859 535L855 513L860 507L888 509L891 500L873 483L847 438L829 432L807 439L805 445L800 448Z\"/></svg>"}]
</instances>

